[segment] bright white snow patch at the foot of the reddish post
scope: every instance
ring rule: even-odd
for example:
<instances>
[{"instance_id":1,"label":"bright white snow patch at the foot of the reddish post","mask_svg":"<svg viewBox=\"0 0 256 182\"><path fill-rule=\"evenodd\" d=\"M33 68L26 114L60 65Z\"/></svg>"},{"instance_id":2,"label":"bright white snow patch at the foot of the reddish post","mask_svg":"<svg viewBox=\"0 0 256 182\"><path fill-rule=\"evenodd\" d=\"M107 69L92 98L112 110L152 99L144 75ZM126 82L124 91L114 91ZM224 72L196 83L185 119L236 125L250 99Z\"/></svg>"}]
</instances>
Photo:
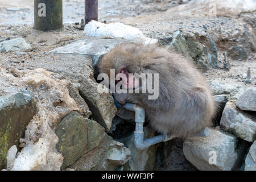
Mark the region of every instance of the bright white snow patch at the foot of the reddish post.
<instances>
[{"instance_id":1,"label":"bright white snow patch at the foot of the reddish post","mask_svg":"<svg viewBox=\"0 0 256 182\"><path fill-rule=\"evenodd\" d=\"M155 44L156 39L147 38L138 28L123 23L101 23L95 20L90 21L84 28L84 35L91 37L110 37L133 40L143 44Z\"/></svg>"}]
</instances>

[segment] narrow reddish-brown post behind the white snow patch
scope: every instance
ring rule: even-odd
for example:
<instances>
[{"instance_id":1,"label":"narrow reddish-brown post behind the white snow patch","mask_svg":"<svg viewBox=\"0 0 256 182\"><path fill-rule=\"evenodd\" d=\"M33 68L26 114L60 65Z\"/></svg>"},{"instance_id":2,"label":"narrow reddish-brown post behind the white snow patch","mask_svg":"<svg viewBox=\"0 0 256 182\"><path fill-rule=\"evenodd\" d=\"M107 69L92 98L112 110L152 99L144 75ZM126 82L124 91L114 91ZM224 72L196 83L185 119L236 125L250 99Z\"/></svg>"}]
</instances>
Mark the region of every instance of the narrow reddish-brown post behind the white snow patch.
<instances>
[{"instance_id":1,"label":"narrow reddish-brown post behind the white snow patch","mask_svg":"<svg viewBox=\"0 0 256 182\"><path fill-rule=\"evenodd\" d=\"M98 0L85 0L85 24L98 20Z\"/></svg>"}]
</instances>

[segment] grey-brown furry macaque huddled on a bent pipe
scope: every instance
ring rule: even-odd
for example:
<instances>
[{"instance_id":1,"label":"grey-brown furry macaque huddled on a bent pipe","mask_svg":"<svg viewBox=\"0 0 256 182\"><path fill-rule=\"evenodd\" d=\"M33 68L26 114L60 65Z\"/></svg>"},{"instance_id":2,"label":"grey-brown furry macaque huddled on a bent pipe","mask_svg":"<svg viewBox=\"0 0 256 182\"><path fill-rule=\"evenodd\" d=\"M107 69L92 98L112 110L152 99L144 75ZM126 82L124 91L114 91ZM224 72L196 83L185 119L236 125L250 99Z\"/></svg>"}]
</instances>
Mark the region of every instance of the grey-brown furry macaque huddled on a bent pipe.
<instances>
[{"instance_id":1,"label":"grey-brown furry macaque huddled on a bent pipe","mask_svg":"<svg viewBox=\"0 0 256 182\"><path fill-rule=\"evenodd\" d=\"M191 61L179 53L153 45L125 43L112 49L98 63L99 72L109 78L110 69L115 70L115 76L158 73L158 83L153 84L154 89L156 86L159 89L156 99L148 98L152 93L114 93L113 96L120 104L130 102L143 107L146 121L159 133L187 138L211 125L216 106L209 86ZM136 86L141 89L137 78L114 79L115 84L124 81L126 89Z\"/></svg>"}]
</instances>

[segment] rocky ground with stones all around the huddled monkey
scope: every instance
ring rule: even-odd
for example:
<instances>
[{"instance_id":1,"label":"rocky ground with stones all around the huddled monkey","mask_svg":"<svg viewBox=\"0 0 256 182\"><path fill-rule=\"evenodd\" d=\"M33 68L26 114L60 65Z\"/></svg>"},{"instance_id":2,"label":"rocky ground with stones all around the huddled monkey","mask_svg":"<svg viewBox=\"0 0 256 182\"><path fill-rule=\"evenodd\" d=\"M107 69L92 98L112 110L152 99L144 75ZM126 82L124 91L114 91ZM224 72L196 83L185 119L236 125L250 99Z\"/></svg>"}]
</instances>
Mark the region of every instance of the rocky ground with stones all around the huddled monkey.
<instances>
[{"instance_id":1,"label":"rocky ground with stones all around the huddled monkey","mask_svg":"<svg viewBox=\"0 0 256 182\"><path fill-rule=\"evenodd\" d=\"M65 24L61 30L36 31L32 25L31 2L0 1L0 121L4 121L0 122L3 126L0 168L60 169L63 163L61 169L77 170L256 170L255 4L248 10L246 5L238 8L237 4L232 9L230 4L217 3L218 11L212 16L205 15L209 12L205 9L209 7L207 2L211 1L99 1L102 22L129 24L148 38L157 39L159 46L188 56L203 72L216 95L214 100L221 105L209 137L170 140L141 151L132 142L134 125L127 122L132 119L115 115L117 109L112 96L97 93L97 82L93 78L92 60L102 47L113 48L126 40L85 37L74 24L83 18L83 1L63 1ZM20 40L21 43L9 51L3 42L16 41L16 38L23 38L27 44ZM60 49L50 52L71 43L74 47L77 40L80 46L92 42L93 51L85 48L78 50L79 55L58 53ZM62 50L67 51L67 47ZM73 51L77 51L76 48ZM246 82L248 67L250 83ZM57 82L60 85L56 86ZM52 85L56 89L50 92ZM70 97L63 96L57 88L63 88L62 92L68 92ZM19 93L20 90L32 93ZM47 98L54 99L47 101ZM72 98L76 104L68 108ZM27 113L24 107L31 107L32 111L29 109ZM6 113L14 115L7 114L11 115L9 118ZM19 115L26 117L19 121ZM36 118L44 118L47 124ZM23 127L16 128L15 122ZM156 135L148 126L144 131L146 137ZM19 138L23 140L19 142ZM46 144L48 138L54 139ZM19 146L21 152L16 158L16 151L9 150L13 144ZM47 154L51 154L46 155L46 160L55 158L52 163L56 165L52 168L41 165L34 160L37 155L30 156L30 164L22 163L31 147L35 153L40 151L38 148L45 148ZM208 163L210 151L217 151L217 164Z\"/></svg>"}]
</instances>

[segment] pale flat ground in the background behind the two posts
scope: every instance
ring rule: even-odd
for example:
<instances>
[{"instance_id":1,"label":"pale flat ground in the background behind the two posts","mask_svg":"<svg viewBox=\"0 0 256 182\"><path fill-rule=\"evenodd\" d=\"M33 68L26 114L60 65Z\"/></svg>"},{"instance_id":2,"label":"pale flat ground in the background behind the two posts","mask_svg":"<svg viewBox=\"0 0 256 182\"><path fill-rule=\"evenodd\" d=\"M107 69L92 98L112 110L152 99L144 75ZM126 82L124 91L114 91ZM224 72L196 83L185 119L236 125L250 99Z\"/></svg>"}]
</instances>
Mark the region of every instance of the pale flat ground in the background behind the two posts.
<instances>
[{"instance_id":1,"label":"pale flat ground in the background behind the two posts","mask_svg":"<svg viewBox=\"0 0 256 182\"><path fill-rule=\"evenodd\" d=\"M186 1L182 0L98 0L98 18L104 22L138 15L156 14ZM63 23L84 18L84 0L63 0ZM34 0L0 0L0 24L34 23Z\"/></svg>"}]
</instances>

